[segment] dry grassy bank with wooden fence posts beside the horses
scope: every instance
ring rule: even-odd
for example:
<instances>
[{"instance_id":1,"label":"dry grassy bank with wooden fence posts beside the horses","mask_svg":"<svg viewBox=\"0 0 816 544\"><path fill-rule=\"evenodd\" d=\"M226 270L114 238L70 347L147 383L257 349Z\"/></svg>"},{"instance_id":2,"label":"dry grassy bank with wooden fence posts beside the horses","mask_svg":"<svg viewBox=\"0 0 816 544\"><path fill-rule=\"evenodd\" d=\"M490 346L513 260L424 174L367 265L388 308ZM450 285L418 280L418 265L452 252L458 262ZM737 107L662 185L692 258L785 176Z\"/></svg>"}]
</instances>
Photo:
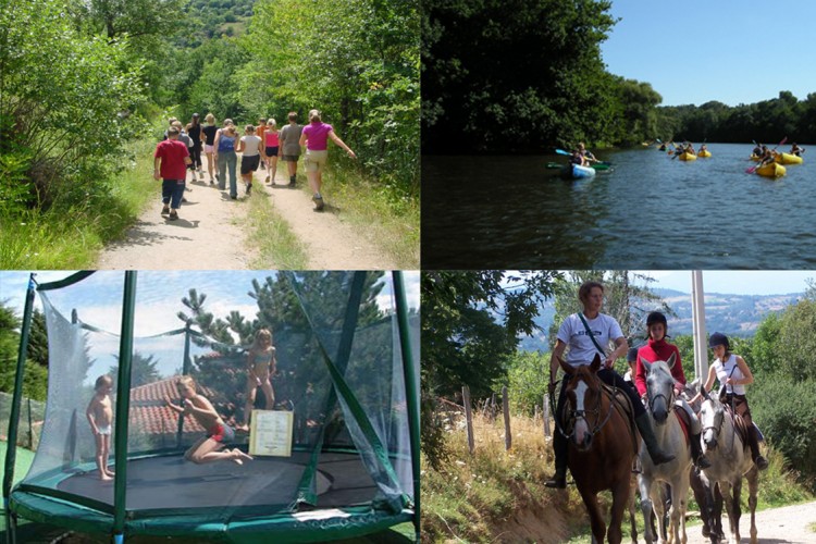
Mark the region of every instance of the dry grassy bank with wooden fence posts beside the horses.
<instances>
[{"instance_id":1,"label":"dry grassy bank with wooden fence posts beside the horses","mask_svg":"<svg viewBox=\"0 0 816 544\"><path fill-rule=\"evenodd\" d=\"M505 450L504 422L475 413L475 452L471 456L461 420L448 431L449 460L434 470L422 457L423 542L590 542L589 518L573 485L565 492L544 487L553 471L551 440L544 436L540 418L511 418L512 448ZM774 508L813 496L795 482L783 456L768 450L770 467L761 473L758 509ZM611 495L598 495L608 514ZM747 511L747 485L743 486L742 511ZM689 490L689 512L698 511ZM638 534L643 535L643 515L636 504ZM700 526L691 517L687 527ZM625 536L629 519L625 516Z\"/></svg>"}]
</instances>

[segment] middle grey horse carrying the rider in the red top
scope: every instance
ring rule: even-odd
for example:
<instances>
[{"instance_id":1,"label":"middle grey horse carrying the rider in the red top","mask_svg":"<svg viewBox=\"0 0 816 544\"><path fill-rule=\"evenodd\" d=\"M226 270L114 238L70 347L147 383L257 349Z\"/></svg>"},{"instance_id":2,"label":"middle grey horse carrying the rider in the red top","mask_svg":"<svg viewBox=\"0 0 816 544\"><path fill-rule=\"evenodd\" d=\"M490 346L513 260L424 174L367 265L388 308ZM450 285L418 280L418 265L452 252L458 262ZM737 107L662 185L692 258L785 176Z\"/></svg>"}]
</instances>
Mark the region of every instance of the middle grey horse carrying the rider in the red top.
<instances>
[{"instance_id":1,"label":"middle grey horse carrying the rider in the red top","mask_svg":"<svg viewBox=\"0 0 816 544\"><path fill-rule=\"evenodd\" d=\"M641 509L645 521L644 537L647 543L655 541L652 534L651 517L657 516L660 526L660 535L666 537L665 502L662 485L655 486L657 482L665 482L671 486L671 506L669 508L669 542L687 542L685 535L685 507L689 495L689 477L691 469L691 448L685 440L680 420L675 412L675 379L671 376L671 368L677 362L675 354L668 361L650 362L641 358L646 371L646 394L648 405L646 413L652 421L655 436L660 449L675 456L675 459L655 466L646 452L645 445L641 447L641 474L638 477L638 486L641 493ZM682 535L682 540L681 540Z\"/></svg>"}]
</instances>

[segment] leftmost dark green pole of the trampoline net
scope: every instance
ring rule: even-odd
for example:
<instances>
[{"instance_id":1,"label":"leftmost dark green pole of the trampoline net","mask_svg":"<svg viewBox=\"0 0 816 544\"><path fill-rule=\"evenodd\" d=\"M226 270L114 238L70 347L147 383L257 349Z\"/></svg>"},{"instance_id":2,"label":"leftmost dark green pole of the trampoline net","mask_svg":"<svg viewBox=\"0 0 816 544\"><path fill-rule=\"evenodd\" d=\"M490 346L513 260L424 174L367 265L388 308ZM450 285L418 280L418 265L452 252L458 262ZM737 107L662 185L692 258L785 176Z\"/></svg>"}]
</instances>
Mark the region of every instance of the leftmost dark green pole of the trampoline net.
<instances>
[{"instance_id":1,"label":"leftmost dark green pole of the trampoline net","mask_svg":"<svg viewBox=\"0 0 816 544\"><path fill-rule=\"evenodd\" d=\"M14 482L14 462L17 457L17 423L20 419L20 406L23 400L23 374L25 373L25 360L28 357L28 334L32 330L32 314L34 311L34 274L28 277L28 288L25 293L25 309L23 310L23 323L20 333L20 348L17 349L17 368L14 374L14 393L11 401L11 415L9 416L9 436L5 448L5 467L3 472L3 510L5 512L7 542L16 542L16 523L12 519L9 508L11 486Z\"/></svg>"}]
</instances>

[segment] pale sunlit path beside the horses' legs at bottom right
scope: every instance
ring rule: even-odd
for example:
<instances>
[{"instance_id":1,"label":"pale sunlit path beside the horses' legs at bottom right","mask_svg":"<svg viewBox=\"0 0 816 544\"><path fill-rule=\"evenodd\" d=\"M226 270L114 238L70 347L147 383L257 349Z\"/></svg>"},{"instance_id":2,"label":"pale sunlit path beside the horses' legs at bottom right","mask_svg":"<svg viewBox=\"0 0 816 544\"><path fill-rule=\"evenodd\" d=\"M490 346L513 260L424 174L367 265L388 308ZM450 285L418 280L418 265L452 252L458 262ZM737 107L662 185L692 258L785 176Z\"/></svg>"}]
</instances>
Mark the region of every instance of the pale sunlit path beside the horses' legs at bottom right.
<instances>
[{"instance_id":1,"label":"pale sunlit path beside the horses' legs at bottom right","mask_svg":"<svg viewBox=\"0 0 816 544\"><path fill-rule=\"evenodd\" d=\"M816 523L816 502L771 508L756 512L756 536L759 543L813 543L816 532L809 526ZM722 516L722 529L728 535L728 517ZM700 526L687 528L688 544L708 544L703 539ZM642 536L642 535L641 535ZM741 542L751 542L751 512L743 510L740 518Z\"/></svg>"}]
</instances>

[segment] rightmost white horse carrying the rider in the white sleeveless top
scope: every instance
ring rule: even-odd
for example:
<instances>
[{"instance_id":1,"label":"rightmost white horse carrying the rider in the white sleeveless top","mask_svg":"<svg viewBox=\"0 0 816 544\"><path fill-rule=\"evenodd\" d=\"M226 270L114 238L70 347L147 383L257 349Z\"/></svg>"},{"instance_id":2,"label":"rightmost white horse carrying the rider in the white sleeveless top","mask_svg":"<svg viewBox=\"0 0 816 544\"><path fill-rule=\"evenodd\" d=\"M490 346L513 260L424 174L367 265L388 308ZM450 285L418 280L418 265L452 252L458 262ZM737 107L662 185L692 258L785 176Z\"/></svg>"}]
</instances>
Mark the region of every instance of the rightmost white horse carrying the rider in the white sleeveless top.
<instances>
[{"instance_id":1,"label":"rightmost white horse carrying the rider in the white sleeveless top","mask_svg":"<svg viewBox=\"0 0 816 544\"><path fill-rule=\"evenodd\" d=\"M719 485L719 491L726 503L728 522L731 536L729 542L740 542L740 494L742 493L743 477L749 482L749 508L751 508L751 544L756 540L756 493L758 490L758 469L751 458L751 449L740 436L735 425L742 423L742 418L726 411L718 398L704 393L703 405L700 408L700 420L703 424L703 450L712 466L703 470L703 479L709 489ZM712 542L716 542L714 521L709 520Z\"/></svg>"}]
</instances>

